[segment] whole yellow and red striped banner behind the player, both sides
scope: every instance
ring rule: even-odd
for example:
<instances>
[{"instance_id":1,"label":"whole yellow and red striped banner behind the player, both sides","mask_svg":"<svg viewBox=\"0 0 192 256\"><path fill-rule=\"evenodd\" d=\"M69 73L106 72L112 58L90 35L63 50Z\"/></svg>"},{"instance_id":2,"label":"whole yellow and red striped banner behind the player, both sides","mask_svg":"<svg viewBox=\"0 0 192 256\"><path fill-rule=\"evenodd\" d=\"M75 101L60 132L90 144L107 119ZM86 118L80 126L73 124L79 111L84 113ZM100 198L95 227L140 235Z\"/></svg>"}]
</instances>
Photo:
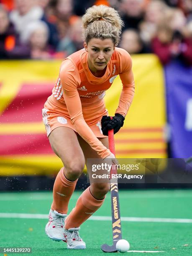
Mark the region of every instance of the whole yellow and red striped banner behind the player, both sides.
<instances>
[{"instance_id":1,"label":"whole yellow and red striped banner behind the player, both sides","mask_svg":"<svg viewBox=\"0 0 192 256\"><path fill-rule=\"evenodd\" d=\"M61 160L46 137L41 110L61 61L0 62L0 175L57 173ZM117 157L166 157L163 69L151 54L133 56L136 93L125 124L115 135ZM121 92L117 77L107 91L114 115Z\"/></svg>"}]
</instances>

